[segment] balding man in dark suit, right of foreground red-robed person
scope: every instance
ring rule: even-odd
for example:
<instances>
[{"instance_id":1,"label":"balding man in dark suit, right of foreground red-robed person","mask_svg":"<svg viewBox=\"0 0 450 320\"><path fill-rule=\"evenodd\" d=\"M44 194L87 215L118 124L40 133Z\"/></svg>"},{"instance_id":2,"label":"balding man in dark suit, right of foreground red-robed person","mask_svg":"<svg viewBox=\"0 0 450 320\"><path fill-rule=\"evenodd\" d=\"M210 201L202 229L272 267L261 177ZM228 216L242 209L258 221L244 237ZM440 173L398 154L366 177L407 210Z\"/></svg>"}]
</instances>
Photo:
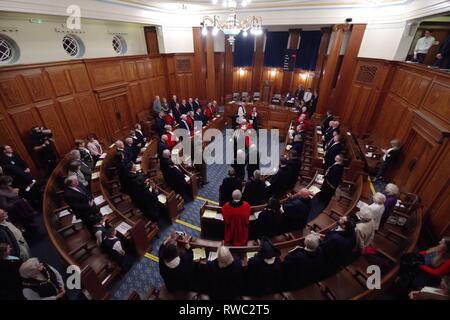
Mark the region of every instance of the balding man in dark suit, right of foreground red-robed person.
<instances>
[{"instance_id":1,"label":"balding man in dark suit, right of foreground red-robed person","mask_svg":"<svg viewBox=\"0 0 450 320\"><path fill-rule=\"evenodd\" d=\"M281 207L283 213L281 233L302 230L306 226L310 211L311 192L303 188Z\"/></svg>"}]
</instances>

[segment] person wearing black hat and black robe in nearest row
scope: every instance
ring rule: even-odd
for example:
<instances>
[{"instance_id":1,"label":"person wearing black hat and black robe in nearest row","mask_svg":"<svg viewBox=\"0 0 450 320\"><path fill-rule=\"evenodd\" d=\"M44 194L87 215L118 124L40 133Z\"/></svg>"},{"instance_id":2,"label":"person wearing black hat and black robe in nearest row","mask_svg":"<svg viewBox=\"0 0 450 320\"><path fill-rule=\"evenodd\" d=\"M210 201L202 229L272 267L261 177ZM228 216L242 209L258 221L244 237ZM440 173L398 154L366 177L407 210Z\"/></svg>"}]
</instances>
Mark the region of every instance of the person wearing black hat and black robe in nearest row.
<instances>
[{"instance_id":1,"label":"person wearing black hat and black robe in nearest row","mask_svg":"<svg viewBox=\"0 0 450 320\"><path fill-rule=\"evenodd\" d=\"M258 253L248 260L244 275L249 295L260 297L281 292L280 250L269 239L263 239Z\"/></svg>"}]
</instances>

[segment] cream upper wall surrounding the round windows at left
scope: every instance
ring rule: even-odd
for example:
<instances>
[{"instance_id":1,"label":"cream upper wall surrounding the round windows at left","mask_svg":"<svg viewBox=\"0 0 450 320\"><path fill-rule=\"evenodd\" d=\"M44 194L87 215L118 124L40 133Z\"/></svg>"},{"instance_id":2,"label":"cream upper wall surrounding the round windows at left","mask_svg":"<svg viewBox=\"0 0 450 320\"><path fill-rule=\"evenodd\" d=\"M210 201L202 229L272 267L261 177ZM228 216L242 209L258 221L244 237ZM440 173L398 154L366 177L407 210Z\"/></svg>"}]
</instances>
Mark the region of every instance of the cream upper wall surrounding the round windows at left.
<instances>
[{"instance_id":1,"label":"cream upper wall surrounding the round windows at left","mask_svg":"<svg viewBox=\"0 0 450 320\"><path fill-rule=\"evenodd\" d=\"M41 18L43 22L41 24L31 23L31 18ZM63 29L62 24L65 22L64 17L58 16L0 13L0 27L17 28L18 30L4 33L12 38L20 49L20 57L15 64L73 59L62 47L62 39L66 33L55 31L55 29ZM82 33L76 33L85 46L85 53L80 58L117 56L118 54L112 47L112 33L124 33L122 37L127 43L125 55L147 53L142 25L82 19L81 30Z\"/></svg>"}]
</instances>

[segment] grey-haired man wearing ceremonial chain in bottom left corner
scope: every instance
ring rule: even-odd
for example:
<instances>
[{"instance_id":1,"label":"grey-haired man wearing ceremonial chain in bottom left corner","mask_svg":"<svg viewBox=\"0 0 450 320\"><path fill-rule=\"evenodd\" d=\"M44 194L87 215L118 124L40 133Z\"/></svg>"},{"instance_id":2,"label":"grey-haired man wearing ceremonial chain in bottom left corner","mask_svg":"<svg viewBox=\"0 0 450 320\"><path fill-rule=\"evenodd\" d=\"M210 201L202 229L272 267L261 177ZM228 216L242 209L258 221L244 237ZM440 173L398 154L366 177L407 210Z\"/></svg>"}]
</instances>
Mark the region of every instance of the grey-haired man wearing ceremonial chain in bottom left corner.
<instances>
[{"instance_id":1,"label":"grey-haired man wearing ceremonial chain in bottom left corner","mask_svg":"<svg viewBox=\"0 0 450 320\"><path fill-rule=\"evenodd\" d=\"M23 295L27 300L58 300L66 293L61 274L52 266L31 258L19 269Z\"/></svg>"}]
</instances>

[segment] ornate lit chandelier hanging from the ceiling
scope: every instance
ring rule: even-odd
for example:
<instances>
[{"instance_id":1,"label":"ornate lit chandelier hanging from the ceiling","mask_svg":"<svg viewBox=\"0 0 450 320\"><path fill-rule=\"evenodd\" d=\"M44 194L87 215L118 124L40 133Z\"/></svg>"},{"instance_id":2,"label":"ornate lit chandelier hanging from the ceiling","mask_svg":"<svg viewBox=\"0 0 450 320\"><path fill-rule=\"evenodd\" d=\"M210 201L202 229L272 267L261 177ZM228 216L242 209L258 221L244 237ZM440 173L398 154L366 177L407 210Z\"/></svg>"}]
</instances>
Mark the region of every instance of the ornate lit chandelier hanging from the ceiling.
<instances>
[{"instance_id":1,"label":"ornate lit chandelier hanging from the ceiling","mask_svg":"<svg viewBox=\"0 0 450 320\"><path fill-rule=\"evenodd\" d=\"M212 35L216 36L219 31L222 31L228 36L228 42L231 45L234 44L235 37L241 32L244 37L247 37L249 32L255 36L263 33L261 17L250 16L243 20L238 20L236 13L228 15L224 20L221 20L219 16L203 17L202 26L202 35L206 36L208 34L207 27L213 27Z\"/></svg>"}]
</instances>

